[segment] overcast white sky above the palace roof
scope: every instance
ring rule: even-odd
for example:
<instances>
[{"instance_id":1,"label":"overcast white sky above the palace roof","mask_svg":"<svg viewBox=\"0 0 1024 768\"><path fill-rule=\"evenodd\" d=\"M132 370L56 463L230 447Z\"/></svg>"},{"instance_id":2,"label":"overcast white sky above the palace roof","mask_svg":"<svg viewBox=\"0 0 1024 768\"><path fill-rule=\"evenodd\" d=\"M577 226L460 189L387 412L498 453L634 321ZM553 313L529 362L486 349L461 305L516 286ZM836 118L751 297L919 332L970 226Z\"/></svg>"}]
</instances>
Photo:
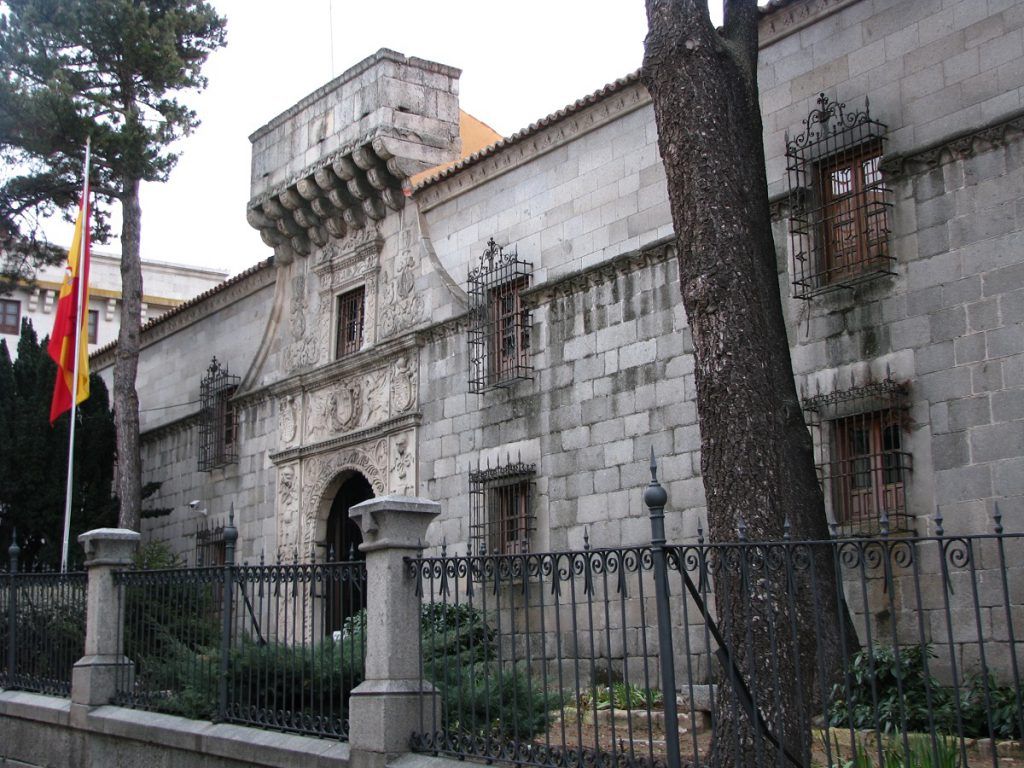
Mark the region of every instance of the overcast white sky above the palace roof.
<instances>
[{"instance_id":1,"label":"overcast white sky above the palace roof","mask_svg":"<svg viewBox=\"0 0 1024 768\"><path fill-rule=\"evenodd\" d=\"M507 136L636 70L647 26L643 0L214 5L227 45L207 62L206 91L186 97L202 125L170 180L143 186L142 258L231 273L271 253L245 218L249 134L334 75L384 47L458 67L462 108Z\"/></svg>"}]
</instances>

